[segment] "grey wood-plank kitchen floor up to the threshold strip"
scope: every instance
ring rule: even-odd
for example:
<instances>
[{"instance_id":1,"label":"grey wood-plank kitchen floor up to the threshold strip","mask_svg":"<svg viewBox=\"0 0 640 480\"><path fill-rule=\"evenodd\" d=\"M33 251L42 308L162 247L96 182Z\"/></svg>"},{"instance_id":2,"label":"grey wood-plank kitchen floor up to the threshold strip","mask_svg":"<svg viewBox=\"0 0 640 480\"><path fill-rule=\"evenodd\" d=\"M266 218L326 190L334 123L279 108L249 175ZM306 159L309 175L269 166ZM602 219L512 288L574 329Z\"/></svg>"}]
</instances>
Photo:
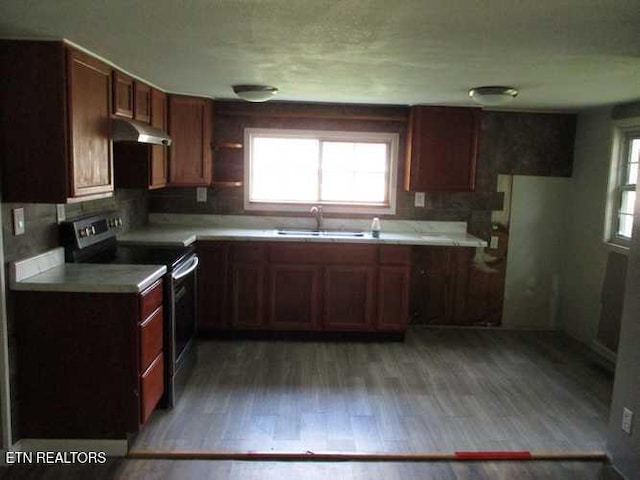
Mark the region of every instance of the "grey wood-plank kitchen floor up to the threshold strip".
<instances>
[{"instance_id":1,"label":"grey wood-plank kitchen floor up to the threshold strip","mask_svg":"<svg viewBox=\"0 0 640 480\"><path fill-rule=\"evenodd\" d=\"M412 328L403 343L198 348L177 407L155 412L134 450L604 450L612 378L559 333Z\"/></svg>"}]
</instances>

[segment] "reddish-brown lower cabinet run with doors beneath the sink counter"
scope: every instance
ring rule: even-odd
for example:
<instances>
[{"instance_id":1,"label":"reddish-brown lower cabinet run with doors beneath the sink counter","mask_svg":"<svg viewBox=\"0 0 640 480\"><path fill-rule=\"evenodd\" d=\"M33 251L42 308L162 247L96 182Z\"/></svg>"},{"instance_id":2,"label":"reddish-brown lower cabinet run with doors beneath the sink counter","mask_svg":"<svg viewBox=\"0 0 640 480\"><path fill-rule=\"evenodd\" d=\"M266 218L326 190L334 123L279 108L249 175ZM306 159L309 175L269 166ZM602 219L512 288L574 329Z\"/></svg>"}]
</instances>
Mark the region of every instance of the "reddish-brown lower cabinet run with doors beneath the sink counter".
<instances>
[{"instance_id":1,"label":"reddish-brown lower cabinet run with doors beneath the sink counter","mask_svg":"<svg viewBox=\"0 0 640 480\"><path fill-rule=\"evenodd\" d=\"M199 242L199 331L403 331L410 248Z\"/></svg>"}]
</instances>

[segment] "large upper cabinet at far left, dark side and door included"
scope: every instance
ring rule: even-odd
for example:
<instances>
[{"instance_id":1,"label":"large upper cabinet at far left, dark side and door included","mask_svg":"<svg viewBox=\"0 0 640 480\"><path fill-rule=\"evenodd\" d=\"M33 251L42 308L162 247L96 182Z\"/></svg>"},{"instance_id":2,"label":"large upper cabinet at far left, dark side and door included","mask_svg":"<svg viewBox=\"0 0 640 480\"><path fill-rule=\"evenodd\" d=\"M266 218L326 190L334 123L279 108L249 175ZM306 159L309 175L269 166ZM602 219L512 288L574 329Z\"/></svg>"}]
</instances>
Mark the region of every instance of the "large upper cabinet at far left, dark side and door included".
<instances>
[{"instance_id":1,"label":"large upper cabinet at far left, dark side and door included","mask_svg":"<svg viewBox=\"0 0 640 480\"><path fill-rule=\"evenodd\" d=\"M7 202L113 192L111 69L62 42L0 42L0 151Z\"/></svg>"}]
</instances>

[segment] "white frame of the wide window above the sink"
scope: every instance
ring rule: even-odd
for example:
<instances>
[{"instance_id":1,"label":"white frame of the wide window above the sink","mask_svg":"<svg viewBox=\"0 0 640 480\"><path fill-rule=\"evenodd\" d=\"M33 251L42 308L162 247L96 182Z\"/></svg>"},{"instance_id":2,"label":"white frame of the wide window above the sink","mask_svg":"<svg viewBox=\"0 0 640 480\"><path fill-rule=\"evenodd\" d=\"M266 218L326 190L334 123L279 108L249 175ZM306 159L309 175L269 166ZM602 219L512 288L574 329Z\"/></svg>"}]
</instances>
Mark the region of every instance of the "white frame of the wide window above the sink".
<instances>
[{"instance_id":1,"label":"white frame of the wide window above the sink","mask_svg":"<svg viewBox=\"0 0 640 480\"><path fill-rule=\"evenodd\" d=\"M387 175L388 204L358 205L351 203L314 202L280 203L252 202L249 198L251 182L251 149L254 136L317 138L343 142L385 142L389 144L389 172ZM392 132L346 132L332 130L295 130L280 128L245 128L244 130L244 209L272 212L308 212L314 205L322 205L325 212L393 215L396 213L398 145L400 135Z\"/></svg>"}]
</instances>

